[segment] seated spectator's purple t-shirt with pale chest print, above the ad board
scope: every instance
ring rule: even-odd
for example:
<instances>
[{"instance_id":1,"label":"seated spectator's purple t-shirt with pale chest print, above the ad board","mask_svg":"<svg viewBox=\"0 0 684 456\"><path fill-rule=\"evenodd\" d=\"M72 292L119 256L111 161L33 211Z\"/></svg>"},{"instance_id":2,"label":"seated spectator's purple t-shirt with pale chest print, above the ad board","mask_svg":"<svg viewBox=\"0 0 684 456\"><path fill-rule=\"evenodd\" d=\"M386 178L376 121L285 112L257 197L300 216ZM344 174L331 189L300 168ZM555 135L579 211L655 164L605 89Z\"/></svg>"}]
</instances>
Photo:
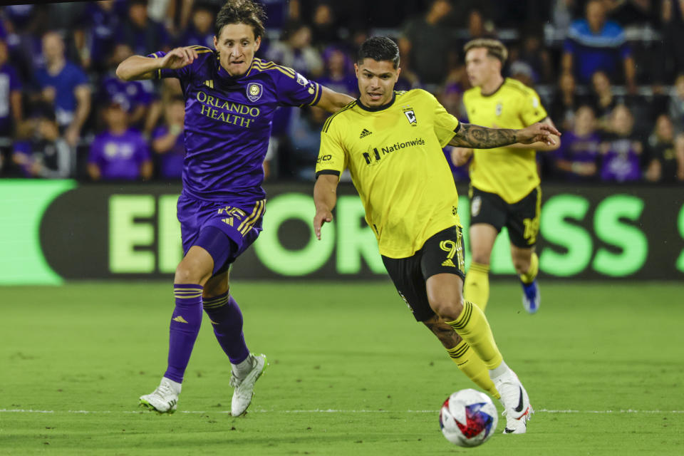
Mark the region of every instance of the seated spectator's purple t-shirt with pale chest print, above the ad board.
<instances>
[{"instance_id":1,"label":"seated spectator's purple t-shirt with pale chest print, above the ad board","mask_svg":"<svg viewBox=\"0 0 684 456\"><path fill-rule=\"evenodd\" d=\"M133 128L121 135L105 131L95 136L88 157L89 163L100 168L103 180L136 180L140 178L140 166L150 160L150 147Z\"/></svg>"}]
</instances>

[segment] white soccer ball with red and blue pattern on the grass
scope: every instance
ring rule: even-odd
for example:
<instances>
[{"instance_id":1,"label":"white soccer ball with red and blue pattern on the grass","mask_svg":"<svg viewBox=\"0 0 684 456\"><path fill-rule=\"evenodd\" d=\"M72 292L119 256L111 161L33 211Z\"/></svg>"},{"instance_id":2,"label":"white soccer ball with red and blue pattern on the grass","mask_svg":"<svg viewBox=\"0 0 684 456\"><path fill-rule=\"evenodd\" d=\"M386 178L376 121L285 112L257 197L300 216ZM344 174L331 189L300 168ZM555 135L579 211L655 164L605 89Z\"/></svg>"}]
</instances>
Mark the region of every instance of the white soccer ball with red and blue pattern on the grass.
<instances>
[{"instance_id":1,"label":"white soccer ball with red and blue pattern on the grass","mask_svg":"<svg viewBox=\"0 0 684 456\"><path fill-rule=\"evenodd\" d=\"M440 410L442 434L460 447L477 447L492 437L499 418L489 396L468 388L450 395Z\"/></svg>"}]
</instances>

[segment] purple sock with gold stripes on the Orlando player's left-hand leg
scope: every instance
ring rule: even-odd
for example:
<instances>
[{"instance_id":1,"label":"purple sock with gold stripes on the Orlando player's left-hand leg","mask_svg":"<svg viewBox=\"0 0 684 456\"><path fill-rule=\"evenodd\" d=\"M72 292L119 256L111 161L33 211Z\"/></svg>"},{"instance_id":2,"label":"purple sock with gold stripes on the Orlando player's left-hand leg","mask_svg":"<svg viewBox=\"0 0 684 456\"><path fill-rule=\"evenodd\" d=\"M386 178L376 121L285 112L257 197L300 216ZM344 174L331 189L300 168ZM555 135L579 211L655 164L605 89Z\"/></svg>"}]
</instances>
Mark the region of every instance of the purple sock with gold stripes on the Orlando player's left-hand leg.
<instances>
[{"instance_id":1,"label":"purple sock with gold stripes on the Orlando player's left-hand leg","mask_svg":"<svg viewBox=\"0 0 684 456\"><path fill-rule=\"evenodd\" d=\"M164 376L182 383L185 368L190 361L199 326L202 324L202 286L174 284L176 308L171 316L169 330L169 364Z\"/></svg>"}]
</instances>

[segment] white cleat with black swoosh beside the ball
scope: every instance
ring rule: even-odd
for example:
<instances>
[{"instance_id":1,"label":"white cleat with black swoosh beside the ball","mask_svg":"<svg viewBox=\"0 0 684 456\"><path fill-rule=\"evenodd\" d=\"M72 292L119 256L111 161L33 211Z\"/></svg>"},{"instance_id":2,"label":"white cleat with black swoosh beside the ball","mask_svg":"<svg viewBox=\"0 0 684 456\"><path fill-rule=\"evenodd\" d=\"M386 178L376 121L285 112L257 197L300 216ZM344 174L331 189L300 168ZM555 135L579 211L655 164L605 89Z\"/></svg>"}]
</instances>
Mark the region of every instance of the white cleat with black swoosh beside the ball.
<instances>
[{"instance_id":1,"label":"white cleat with black swoosh beside the ball","mask_svg":"<svg viewBox=\"0 0 684 456\"><path fill-rule=\"evenodd\" d=\"M494 386L501 395L504 405L502 415L506 417L504 434L524 434L527 432L527 421L534 413L529 403L529 396L518 376L510 369L507 373L492 378Z\"/></svg>"}]
</instances>

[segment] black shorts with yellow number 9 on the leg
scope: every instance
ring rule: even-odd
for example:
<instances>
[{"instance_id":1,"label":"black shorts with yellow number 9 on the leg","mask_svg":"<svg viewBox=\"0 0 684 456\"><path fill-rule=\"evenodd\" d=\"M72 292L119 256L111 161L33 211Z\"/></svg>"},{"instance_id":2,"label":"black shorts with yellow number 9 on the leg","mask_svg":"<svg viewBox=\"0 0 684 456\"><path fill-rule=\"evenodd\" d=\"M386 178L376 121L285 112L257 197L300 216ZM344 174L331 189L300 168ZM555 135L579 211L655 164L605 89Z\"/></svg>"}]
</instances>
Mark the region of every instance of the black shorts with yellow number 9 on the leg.
<instances>
[{"instance_id":1,"label":"black shorts with yellow number 9 on the leg","mask_svg":"<svg viewBox=\"0 0 684 456\"><path fill-rule=\"evenodd\" d=\"M383 255L385 269L416 321L425 321L435 315L427 301L425 281L442 273L456 274L465 279L463 255L460 227L450 227L430 237L413 257L388 258Z\"/></svg>"}]
</instances>

